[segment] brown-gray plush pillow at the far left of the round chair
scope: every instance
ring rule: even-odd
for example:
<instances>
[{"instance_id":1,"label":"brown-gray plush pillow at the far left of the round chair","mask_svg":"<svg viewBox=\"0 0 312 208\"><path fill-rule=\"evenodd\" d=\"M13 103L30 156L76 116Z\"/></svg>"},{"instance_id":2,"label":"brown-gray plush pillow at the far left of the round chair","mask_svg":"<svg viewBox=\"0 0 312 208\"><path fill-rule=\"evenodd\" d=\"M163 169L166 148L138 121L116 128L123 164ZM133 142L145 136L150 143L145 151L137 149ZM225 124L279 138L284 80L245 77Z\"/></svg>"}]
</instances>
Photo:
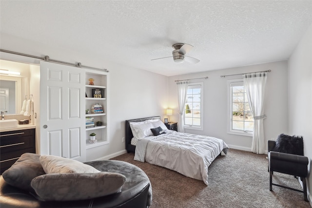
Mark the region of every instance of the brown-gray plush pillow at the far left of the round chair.
<instances>
[{"instance_id":1,"label":"brown-gray plush pillow at the far left of the round chair","mask_svg":"<svg viewBox=\"0 0 312 208\"><path fill-rule=\"evenodd\" d=\"M17 188L35 192L30 185L31 180L45 174L39 157L39 154L23 153L11 168L2 173L5 182Z\"/></svg>"}]
</instances>

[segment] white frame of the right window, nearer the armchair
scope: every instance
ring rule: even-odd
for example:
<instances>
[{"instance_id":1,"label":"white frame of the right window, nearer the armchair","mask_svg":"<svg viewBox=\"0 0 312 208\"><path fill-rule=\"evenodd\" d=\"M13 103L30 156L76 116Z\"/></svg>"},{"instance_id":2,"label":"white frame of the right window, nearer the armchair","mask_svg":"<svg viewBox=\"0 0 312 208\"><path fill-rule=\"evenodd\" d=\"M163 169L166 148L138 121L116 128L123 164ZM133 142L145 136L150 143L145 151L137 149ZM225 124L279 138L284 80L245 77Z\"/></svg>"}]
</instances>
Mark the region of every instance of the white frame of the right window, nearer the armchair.
<instances>
[{"instance_id":1,"label":"white frame of the right window, nearer the armchair","mask_svg":"<svg viewBox=\"0 0 312 208\"><path fill-rule=\"evenodd\" d=\"M234 130L232 129L232 116L233 116L233 101L232 101L232 90L231 90L231 84L232 83L242 83L242 85L244 85L244 81L243 79L229 79L227 80L227 89L228 89L228 116L227 116L227 120L228 120L228 124L227 124L227 133L229 134L236 134L236 135L242 135L242 136L250 136L253 137L254 132L244 132L241 130Z\"/></svg>"}]
</instances>

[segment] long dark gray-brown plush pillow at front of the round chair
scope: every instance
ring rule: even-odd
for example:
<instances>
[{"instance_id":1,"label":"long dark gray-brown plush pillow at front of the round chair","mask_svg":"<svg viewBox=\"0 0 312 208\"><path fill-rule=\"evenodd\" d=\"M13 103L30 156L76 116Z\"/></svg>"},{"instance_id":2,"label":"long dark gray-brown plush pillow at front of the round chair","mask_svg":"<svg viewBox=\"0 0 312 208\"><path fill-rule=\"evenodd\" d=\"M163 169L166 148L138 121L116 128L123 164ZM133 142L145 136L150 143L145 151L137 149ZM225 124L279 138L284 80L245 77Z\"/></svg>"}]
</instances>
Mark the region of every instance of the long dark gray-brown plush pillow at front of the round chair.
<instances>
[{"instance_id":1,"label":"long dark gray-brown plush pillow at front of the round chair","mask_svg":"<svg viewBox=\"0 0 312 208\"><path fill-rule=\"evenodd\" d=\"M120 192L125 182L120 173L51 173L34 178L31 186L39 200L73 201Z\"/></svg>"}]
</instances>

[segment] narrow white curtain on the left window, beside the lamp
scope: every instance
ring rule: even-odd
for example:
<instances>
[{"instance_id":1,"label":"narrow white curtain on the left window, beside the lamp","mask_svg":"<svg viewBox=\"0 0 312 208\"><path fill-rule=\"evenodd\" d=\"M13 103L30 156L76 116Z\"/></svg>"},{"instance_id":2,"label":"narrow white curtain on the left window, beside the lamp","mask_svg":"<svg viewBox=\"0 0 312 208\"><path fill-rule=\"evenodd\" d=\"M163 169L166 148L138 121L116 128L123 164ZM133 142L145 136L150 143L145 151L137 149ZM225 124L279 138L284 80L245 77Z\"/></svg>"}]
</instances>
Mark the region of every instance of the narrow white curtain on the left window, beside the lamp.
<instances>
[{"instance_id":1,"label":"narrow white curtain on the left window, beside the lamp","mask_svg":"<svg viewBox=\"0 0 312 208\"><path fill-rule=\"evenodd\" d=\"M179 104L179 123L177 131L184 132L183 113L185 110L188 81L178 81L176 82L176 86L177 86L177 102Z\"/></svg>"}]
</instances>

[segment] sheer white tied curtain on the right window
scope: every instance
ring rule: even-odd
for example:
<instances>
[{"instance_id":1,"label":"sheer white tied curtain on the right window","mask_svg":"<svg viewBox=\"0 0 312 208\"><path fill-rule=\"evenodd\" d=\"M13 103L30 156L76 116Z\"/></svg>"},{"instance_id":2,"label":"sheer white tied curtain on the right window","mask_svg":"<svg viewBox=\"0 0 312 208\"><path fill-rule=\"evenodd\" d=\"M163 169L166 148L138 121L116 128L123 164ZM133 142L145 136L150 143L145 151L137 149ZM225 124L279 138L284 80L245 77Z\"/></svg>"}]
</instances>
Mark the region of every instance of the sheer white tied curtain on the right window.
<instances>
[{"instance_id":1,"label":"sheer white tied curtain on the right window","mask_svg":"<svg viewBox=\"0 0 312 208\"><path fill-rule=\"evenodd\" d=\"M264 154L265 138L263 129L264 114L264 94L267 82L266 72L249 73L243 75L244 86L250 109L254 115L254 135L252 151L257 154Z\"/></svg>"}]
</instances>

